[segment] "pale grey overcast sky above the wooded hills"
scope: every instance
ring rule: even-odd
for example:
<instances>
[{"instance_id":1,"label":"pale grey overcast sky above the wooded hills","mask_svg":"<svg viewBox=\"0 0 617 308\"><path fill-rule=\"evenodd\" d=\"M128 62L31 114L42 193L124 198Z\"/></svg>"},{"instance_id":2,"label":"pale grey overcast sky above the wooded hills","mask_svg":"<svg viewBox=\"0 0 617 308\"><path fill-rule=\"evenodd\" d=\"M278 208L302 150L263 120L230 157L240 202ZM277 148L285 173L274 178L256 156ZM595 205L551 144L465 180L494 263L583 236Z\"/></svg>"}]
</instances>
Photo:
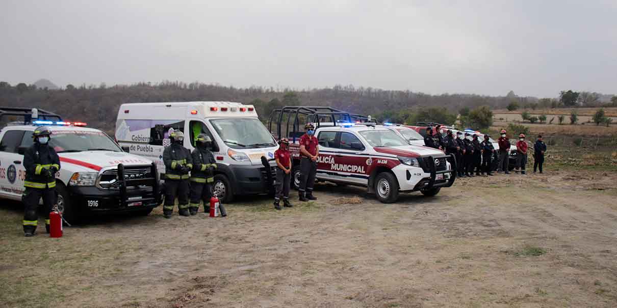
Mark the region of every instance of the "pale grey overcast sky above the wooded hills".
<instances>
[{"instance_id":1,"label":"pale grey overcast sky above the wooded hills","mask_svg":"<svg viewBox=\"0 0 617 308\"><path fill-rule=\"evenodd\" d=\"M617 1L0 0L0 81L617 93Z\"/></svg>"}]
</instances>

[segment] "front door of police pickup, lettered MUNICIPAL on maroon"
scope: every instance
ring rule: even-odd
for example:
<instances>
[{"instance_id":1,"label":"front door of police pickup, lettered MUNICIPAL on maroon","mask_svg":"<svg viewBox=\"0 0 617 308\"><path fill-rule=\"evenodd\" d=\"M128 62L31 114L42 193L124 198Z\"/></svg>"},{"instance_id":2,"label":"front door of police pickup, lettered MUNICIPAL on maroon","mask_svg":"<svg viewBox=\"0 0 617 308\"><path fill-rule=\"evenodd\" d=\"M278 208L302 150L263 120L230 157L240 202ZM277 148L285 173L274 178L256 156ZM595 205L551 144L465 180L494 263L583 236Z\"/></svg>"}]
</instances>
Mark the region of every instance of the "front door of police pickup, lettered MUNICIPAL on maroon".
<instances>
[{"instance_id":1,"label":"front door of police pickup, lettered MUNICIPAL on maroon","mask_svg":"<svg viewBox=\"0 0 617 308\"><path fill-rule=\"evenodd\" d=\"M341 181L368 185L366 170L372 160L365 155L366 147L352 132L340 134L339 153L336 155L336 164L331 168L337 170Z\"/></svg>"}]
</instances>

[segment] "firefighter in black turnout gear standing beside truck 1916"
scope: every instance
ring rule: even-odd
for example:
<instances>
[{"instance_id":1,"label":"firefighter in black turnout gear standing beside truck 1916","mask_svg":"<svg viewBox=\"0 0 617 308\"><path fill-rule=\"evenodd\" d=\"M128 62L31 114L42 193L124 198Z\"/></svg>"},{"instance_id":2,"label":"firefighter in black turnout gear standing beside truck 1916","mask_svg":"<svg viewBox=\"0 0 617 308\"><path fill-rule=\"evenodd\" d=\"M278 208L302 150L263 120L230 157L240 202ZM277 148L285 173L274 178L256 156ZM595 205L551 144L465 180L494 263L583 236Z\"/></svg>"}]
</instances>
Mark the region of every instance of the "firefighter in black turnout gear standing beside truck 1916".
<instances>
[{"instance_id":1,"label":"firefighter in black turnout gear standing beside truck 1916","mask_svg":"<svg viewBox=\"0 0 617 308\"><path fill-rule=\"evenodd\" d=\"M43 198L45 230L49 233L49 213L56 205L56 172L60 170L60 158L49 146L51 129L36 128L32 133L35 143L23 154L26 169L25 188L22 196L24 205L23 233L26 237L35 235L38 223L38 201Z\"/></svg>"}]
</instances>

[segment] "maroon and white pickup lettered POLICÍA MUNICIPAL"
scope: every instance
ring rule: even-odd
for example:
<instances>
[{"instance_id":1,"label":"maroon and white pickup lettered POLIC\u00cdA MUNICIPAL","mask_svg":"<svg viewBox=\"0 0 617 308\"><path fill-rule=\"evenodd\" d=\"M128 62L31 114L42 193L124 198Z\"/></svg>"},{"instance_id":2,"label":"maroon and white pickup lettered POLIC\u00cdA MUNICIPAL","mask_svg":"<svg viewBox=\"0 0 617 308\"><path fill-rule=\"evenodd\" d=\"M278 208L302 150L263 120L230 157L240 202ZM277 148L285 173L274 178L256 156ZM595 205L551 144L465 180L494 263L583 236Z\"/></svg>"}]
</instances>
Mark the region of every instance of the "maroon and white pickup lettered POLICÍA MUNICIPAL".
<instances>
[{"instance_id":1,"label":"maroon and white pickup lettered POLIC\u00cdA MUNICIPAL","mask_svg":"<svg viewBox=\"0 0 617 308\"><path fill-rule=\"evenodd\" d=\"M327 124L315 130L318 180L367 187L383 203L395 202L399 193L405 192L434 196L455 180L455 160L440 150L409 145L395 132L375 124ZM296 188L299 140L297 136L290 138L292 185Z\"/></svg>"}]
</instances>

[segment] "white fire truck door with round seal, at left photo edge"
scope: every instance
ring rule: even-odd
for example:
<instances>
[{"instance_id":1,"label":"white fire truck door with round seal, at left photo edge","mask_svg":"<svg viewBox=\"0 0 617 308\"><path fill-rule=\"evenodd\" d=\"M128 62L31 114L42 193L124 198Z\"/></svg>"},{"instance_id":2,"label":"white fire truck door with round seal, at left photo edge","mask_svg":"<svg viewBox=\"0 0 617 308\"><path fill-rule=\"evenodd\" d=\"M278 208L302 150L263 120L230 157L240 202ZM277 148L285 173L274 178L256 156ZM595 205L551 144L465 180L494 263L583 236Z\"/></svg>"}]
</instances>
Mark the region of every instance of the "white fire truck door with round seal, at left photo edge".
<instances>
[{"instance_id":1,"label":"white fire truck door with round seal, at left photo edge","mask_svg":"<svg viewBox=\"0 0 617 308\"><path fill-rule=\"evenodd\" d=\"M23 155L17 152L25 131L6 131L0 140L0 190L3 195L19 200L23 192L25 168Z\"/></svg>"}]
</instances>

